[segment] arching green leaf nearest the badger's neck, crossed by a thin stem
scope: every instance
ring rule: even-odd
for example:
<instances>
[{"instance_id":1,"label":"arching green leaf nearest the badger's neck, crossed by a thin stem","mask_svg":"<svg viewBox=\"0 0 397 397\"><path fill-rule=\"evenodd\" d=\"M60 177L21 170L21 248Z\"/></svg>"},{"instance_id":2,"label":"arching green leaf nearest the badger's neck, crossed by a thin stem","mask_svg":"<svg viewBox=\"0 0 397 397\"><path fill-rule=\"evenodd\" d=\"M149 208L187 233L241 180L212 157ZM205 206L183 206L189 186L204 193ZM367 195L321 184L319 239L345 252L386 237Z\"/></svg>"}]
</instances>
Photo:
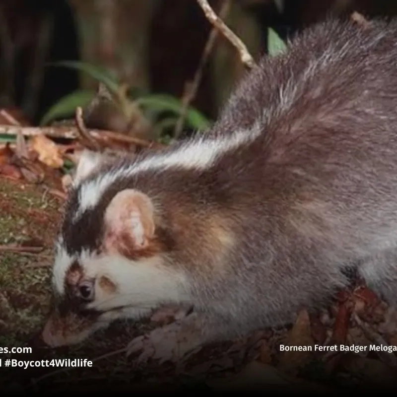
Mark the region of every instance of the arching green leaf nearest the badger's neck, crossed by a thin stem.
<instances>
[{"instance_id":1,"label":"arching green leaf nearest the badger's neck, crossed by a thin stem","mask_svg":"<svg viewBox=\"0 0 397 397\"><path fill-rule=\"evenodd\" d=\"M150 110L169 111L181 114L182 102L166 94L150 94L142 96L135 101L139 106L147 107ZM197 109L190 107L186 114L186 122L194 129L205 130L211 122Z\"/></svg>"}]
</instances>

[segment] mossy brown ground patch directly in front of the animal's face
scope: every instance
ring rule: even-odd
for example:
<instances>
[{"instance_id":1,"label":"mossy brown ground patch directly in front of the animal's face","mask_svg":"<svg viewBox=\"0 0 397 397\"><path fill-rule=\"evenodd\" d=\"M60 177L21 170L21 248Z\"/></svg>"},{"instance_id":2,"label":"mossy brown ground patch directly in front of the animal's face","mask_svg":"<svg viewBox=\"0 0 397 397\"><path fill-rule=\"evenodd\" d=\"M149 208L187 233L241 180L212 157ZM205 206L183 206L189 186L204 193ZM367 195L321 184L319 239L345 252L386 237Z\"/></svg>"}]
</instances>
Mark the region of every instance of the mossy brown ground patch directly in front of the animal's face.
<instances>
[{"instance_id":1,"label":"mossy brown ground patch directly in front of the animal's face","mask_svg":"<svg viewBox=\"0 0 397 397\"><path fill-rule=\"evenodd\" d=\"M25 344L44 321L59 207L40 187L0 180L0 245L35 238L45 246L37 255L0 252L0 345Z\"/></svg>"}]
</instances>

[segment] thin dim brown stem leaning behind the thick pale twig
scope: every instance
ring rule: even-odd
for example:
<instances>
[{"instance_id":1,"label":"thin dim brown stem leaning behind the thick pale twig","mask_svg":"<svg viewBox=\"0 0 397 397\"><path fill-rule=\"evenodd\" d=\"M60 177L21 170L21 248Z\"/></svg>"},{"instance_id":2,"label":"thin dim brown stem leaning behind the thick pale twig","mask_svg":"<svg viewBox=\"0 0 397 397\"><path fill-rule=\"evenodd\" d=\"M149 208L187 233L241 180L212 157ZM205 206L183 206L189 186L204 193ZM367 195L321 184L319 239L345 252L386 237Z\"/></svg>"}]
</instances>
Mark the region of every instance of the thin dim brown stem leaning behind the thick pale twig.
<instances>
[{"instance_id":1,"label":"thin dim brown stem leaning behind the thick pale twig","mask_svg":"<svg viewBox=\"0 0 397 397\"><path fill-rule=\"evenodd\" d=\"M224 19L230 9L230 0L224 0L219 10L219 18ZM185 121L186 113L188 111L190 103L195 99L197 90L202 77L202 71L208 60L208 57L214 47L216 38L218 36L218 29L215 25L212 26L211 32L209 33L208 40L205 44L204 50L201 55L199 66L197 67L196 73L192 81L189 81L185 85L185 92L182 97L182 110L179 116L178 122L175 126L174 139L177 139L182 132L183 124Z\"/></svg>"}]
</instances>

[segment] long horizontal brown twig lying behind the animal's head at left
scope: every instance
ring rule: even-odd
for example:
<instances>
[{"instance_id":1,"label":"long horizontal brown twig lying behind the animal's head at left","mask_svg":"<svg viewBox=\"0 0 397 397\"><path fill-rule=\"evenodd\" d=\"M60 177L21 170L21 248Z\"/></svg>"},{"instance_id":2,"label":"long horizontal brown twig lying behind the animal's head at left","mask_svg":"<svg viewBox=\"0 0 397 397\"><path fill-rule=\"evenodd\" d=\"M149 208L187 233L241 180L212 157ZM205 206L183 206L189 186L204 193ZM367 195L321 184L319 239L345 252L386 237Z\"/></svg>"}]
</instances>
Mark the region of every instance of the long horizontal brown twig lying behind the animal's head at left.
<instances>
[{"instance_id":1,"label":"long horizontal brown twig lying behind the animal's head at left","mask_svg":"<svg viewBox=\"0 0 397 397\"><path fill-rule=\"evenodd\" d=\"M76 139L78 138L79 132L75 127L15 127L0 125L0 134L5 135L17 135L18 131L22 132L23 136L35 136L40 134L45 134L53 138L66 138L66 139ZM97 140L107 140L111 139L121 143L130 143L142 147L153 147L160 148L165 147L161 143L150 141L146 139L139 139L133 136L124 135L122 133L105 131L105 130L87 130L87 132Z\"/></svg>"}]
</instances>

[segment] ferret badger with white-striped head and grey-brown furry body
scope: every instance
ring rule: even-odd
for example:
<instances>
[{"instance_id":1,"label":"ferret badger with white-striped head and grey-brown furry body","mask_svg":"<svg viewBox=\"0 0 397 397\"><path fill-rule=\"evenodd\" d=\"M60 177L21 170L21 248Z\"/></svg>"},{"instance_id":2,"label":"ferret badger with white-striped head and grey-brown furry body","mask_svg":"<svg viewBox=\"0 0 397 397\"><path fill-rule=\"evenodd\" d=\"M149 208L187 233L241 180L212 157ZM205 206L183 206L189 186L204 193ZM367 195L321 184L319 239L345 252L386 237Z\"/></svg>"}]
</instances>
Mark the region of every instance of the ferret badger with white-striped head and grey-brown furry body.
<instances>
[{"instance_id":1,"label":"ferret badger with white-striped head and grey-brown furry body","mask_svg":"<svg viewBox=\"0 0 397 397\"><path fill-rule=\"evenodd\" d=\"M327 20L265 56L207 133L83 156L43 337L166 304L193 307L173 327L197 344L245 335L327 304L352 267L396 303L396 259L397 21Z\"/></svg>"}]
</instances>

